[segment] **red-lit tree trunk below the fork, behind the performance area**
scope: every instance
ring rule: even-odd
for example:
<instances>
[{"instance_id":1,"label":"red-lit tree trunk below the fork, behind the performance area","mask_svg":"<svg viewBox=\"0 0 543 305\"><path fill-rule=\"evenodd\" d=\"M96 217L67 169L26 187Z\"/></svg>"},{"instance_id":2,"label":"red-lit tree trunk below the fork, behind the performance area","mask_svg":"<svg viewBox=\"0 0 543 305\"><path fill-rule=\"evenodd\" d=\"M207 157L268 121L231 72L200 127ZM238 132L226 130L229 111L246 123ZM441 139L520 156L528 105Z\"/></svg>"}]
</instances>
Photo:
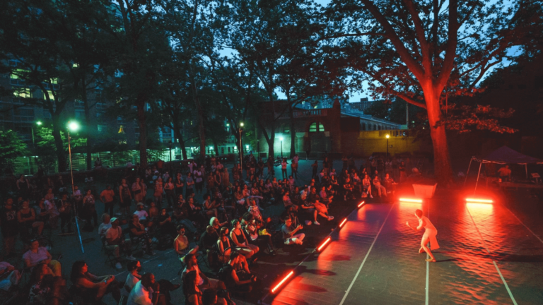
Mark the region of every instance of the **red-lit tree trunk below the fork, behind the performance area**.
<instances>
[{"instance_id":1,"label":"red-lit tree trunk below the fork, behind the performance area","mask_svg":"<svg viewBox=\"0 0 543 305\"><path fill-rule=\"evenodd\" d=\"M438 126L442 115L439 107L440 92L441 90L437 88L428 88L424 90L424 99L426 100L426 111L428 112L430 136L433 144L434 173L441 186L449 186L452 183L452 167L447 134L444 125Z\"/></svg>"}]
</instances>

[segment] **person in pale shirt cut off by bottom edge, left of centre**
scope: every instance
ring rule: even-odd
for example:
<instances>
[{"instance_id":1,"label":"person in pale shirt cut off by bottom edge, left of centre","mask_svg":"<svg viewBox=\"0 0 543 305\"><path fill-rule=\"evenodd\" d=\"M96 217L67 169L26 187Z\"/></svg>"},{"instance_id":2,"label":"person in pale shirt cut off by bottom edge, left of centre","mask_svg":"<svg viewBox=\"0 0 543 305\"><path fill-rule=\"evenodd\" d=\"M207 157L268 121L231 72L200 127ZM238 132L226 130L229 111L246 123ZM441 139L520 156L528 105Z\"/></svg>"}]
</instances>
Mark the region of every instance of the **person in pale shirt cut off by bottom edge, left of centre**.
<instances>
[{"instance_id":1,"label":"person in pale shirt cut off by bottom edge, left of centre","mask_svg":"<svg viewBox=\"0 0 543 305\"><path fill-rule=\"evenodd\" d=\"M160 294L160 284L153 273L145 273L128 295L127 305L166 305L166 297Z\"/></svg>"}]
</instances>

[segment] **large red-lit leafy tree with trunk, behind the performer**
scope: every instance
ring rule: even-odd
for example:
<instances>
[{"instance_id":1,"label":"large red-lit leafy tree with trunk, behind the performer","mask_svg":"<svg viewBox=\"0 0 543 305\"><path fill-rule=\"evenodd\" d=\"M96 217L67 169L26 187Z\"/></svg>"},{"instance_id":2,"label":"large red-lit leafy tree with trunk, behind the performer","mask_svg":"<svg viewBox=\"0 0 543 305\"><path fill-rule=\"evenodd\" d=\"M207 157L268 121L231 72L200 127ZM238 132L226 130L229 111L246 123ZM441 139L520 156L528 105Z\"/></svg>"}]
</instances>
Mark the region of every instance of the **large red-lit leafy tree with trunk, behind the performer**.
<instances>
[{"instance_id":1,"label":"large red-lit leafy tree with trunk, behind the performer","mask_svg":"<svg viewBox=\"0 0 543 305\"><path fill-rule=\"evenodd\" d=\"M333 40L358 80L383 97L426 109L438 181L452 180L443 120L445 92L473 92L489 68L525 39L526 1L334 0L326 15ZM510 8L506 8L510 7Z\"/></svg>"}]
</instances>

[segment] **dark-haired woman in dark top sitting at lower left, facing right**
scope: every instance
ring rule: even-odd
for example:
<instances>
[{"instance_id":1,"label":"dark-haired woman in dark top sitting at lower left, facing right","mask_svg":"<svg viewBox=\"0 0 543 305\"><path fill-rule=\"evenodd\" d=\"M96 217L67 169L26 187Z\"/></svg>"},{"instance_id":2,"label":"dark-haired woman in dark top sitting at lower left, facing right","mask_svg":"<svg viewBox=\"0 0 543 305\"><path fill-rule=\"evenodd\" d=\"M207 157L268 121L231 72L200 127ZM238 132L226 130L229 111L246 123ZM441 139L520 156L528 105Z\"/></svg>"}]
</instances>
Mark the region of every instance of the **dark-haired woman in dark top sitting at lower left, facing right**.
<instances>
[{"instance_id":1,"label":"dark-haired woman in dark top sitting at lower left, facing right","mask_svg":"<svg viewBox=\"0 0 543 305\"><path fill-rule=\"evenodd\" d=\"M121 283L115 280L115 275L93 275L88 272L85 261L76 261L72 265L70 280L84 300L100 301L106 294L112 294L117 303L121 299Z\"/></svg>"}]
</instances>

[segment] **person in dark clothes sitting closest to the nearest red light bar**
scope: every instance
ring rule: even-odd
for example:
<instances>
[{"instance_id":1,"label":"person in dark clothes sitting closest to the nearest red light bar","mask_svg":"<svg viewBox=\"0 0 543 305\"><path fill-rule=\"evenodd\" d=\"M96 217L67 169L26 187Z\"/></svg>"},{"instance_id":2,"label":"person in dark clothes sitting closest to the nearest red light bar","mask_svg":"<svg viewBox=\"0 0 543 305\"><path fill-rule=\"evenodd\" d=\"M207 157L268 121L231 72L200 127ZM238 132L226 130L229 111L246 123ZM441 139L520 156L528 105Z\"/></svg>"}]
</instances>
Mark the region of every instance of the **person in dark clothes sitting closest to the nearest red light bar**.
<instances>
[{"instance_id":1,"label":"person in dark clothes sitting closest to the nearest red light bar","mask_svg":"<svg viewBox=\"0 0 543 305\"><path fill-rule=\"evenodd\" d=\"M239 265L242 255L238 252L230 254L230 260L219 270L218 278L223 281L230 292L251 292L252 286L257 281L257 277L250 273L236 270L235 265Z\"/></svg>"}]
</instances>

